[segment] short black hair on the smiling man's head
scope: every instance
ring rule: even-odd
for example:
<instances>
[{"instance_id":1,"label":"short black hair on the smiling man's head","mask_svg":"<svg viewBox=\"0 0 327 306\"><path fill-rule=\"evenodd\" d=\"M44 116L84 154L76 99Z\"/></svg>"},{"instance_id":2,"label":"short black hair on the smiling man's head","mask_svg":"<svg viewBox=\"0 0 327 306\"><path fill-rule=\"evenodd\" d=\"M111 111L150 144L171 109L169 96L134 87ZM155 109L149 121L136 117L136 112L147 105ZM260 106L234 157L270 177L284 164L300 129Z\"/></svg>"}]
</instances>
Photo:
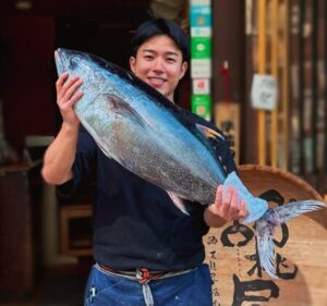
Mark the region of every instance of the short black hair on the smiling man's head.
<instances>
[{"instance_id":1,"label":"short black hair on the smiling man's head","mask_svg":"<svg viewBox=\"0 0 327 306\"><path fill-rule=\"evenodd\" d=\"M150 20L138 26L131 40L132 56L136 57L140 46L157 35L169 36L182 51L183 61L190 60L190 46L186 33L174 21L167 19Z\"/></svg>"}]
</instances>

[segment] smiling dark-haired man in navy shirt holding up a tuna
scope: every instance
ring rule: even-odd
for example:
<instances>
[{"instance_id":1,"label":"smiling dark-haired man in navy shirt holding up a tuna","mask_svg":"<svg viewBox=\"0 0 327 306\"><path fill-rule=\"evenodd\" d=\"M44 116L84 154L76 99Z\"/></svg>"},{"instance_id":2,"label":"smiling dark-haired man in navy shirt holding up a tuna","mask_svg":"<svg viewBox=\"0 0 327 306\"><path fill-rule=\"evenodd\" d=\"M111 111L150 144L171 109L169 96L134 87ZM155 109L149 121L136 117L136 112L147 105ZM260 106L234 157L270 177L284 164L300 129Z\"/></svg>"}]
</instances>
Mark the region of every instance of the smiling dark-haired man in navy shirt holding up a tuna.
<instances>
[{"instance_id":1,"label":"smiling dark-haired man in navy shirt holding up a tuna","mask_svg":"<svg viewBox=\"0 0 327 306\"><path fill-rule=\"evenodd\" d=\"M131 71L173 103L175 87L187 70L186 35L171 21L150 21L136 30L132 49ZM246 217L246 203L232 186L220 185L214 204L186 201L189 216L182 213L173 205L173 195L106 157L80 124L74 105L85 94L81 90L83 75L65 72L56 86L63 122L46 151L43 176L66 195L92 175L97 183L93 240L96 265L85 305L211 306L211 279L203 264L202 237L208 227ZM216 130L191 113L189 120ZM220 149L227 171L233 171L225 142Z\"/></svg>"}]
</instances>

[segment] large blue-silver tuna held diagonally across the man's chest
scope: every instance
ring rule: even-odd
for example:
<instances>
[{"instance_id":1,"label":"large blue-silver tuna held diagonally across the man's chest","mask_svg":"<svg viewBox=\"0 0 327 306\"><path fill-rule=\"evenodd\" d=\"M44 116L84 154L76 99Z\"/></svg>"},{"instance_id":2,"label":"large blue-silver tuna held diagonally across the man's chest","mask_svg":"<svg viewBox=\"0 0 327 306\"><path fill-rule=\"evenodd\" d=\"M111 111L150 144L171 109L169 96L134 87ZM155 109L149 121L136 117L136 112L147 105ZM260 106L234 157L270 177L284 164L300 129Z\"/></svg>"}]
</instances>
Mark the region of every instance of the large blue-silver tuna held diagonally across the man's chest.
<instances>
[{"instance_id":1,"label":"large blue-silver tuna held diagonally across the man's chest","mask_svg":"<svg viewBox=\"0 0 327 306\"><path fill-rule=\"evenodd\" d=\"M213 144L221 135L187 120L185 111L166 99L133 73L96 56L56 51L58 73L83 78L83 98L75 105L82 124L109 158L167 191L186 213L182 199L213 204L217 186L232 184L246 199L249 216L256 221L261 265L276 278L272 235L284 221L325 207L304 200L268 209L238 175L227 175Z\"/></svg>"}]
</instances>

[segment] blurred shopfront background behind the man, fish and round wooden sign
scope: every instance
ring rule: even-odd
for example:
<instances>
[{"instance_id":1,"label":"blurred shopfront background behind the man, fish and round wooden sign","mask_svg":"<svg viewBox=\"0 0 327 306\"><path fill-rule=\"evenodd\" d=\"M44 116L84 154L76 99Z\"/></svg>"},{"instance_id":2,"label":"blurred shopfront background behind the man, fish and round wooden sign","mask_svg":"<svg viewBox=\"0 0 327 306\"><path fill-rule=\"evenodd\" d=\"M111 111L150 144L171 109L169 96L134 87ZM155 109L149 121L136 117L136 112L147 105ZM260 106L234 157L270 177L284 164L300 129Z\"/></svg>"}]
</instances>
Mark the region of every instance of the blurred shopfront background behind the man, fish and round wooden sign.
<instances>
[{"instance_id":1,"label":"blurred shopfront background behind the man, fish and round wooden sign","mask_svg":"<svg viewBox=\"0 0 327 306\"><path fill-rule=\"evenodd\" d=\"M215 122L238 164L299 175L327 194L324 0L2 0L0 2L0 305L82 305L92 265L93 186L58 198L40 178L59 131L53 51L128 69L149 17L190 35L179 103Z\"/></svg>"}]
</instances>

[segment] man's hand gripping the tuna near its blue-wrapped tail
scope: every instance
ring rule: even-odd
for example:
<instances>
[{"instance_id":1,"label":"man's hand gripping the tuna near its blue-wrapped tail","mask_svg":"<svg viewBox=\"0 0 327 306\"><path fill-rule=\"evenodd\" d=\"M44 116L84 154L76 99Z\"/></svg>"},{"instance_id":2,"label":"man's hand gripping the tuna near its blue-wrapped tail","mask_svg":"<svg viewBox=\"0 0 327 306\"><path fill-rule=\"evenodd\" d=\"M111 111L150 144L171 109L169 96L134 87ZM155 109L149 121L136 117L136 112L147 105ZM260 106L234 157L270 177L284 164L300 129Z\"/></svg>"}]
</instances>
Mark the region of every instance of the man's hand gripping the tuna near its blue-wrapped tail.
<instances>
[{"instance_id":1,"label":"man's hand gripping the tuna near its blue-wrapped tail","mask_svg":"<svg viewBox=\"0 0 327 306\"><path fill-rule=\"evenodd\" d=\"M211 228L220 228L231 220L240 220L247 215L247 205L239 197L238 191L232 186L219 185L216 200L204 212L204 220Z\"/></svg>"}]
</instances>

